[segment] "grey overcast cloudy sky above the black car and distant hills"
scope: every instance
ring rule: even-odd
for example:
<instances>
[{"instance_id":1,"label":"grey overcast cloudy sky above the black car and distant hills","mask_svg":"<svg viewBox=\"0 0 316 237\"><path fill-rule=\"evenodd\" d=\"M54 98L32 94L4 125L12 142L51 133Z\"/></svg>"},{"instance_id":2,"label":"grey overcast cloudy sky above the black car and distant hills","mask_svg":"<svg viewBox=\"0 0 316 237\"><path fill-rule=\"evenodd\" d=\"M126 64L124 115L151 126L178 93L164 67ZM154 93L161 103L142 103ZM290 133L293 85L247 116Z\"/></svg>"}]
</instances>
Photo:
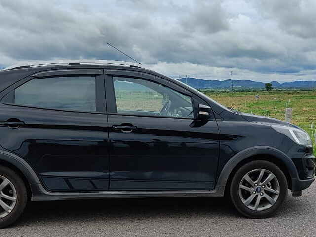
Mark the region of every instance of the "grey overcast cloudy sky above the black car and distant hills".
<instances>
[{"instance_id":1,"label":"grey overcast cloudy sky above the black car and distant hills","mask_svg":"<svg viewBox=\"0 0 316 237\"><path fill-rule=\"evenodd\" d=\"M128 61L167 76L316 80L316 0L0 0L0 68Z\"/></svg>"}]
</instances>

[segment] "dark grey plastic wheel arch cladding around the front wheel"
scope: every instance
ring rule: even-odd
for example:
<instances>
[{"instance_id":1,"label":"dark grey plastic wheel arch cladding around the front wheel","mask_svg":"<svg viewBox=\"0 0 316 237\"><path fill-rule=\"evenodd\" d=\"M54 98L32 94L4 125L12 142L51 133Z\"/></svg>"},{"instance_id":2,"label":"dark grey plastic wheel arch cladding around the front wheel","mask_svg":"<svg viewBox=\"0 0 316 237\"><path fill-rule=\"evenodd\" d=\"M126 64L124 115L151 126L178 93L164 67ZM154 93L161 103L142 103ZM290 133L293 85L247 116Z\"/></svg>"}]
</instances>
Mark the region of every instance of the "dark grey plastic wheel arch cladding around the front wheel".
<instances>
[{"instance_id":1,"label":"dark grey plastic wheel arch cladding around the front wheel","mask_svg":"<svg viewBox=\"0 0 316 237\"><path fill-rule=\"evenodd\" d=\"M238 168L254 160L266 160L276 164L286 176L288 188L292 188L292 178L298 177L293 161L284 152L266 146L247 148L233 156L222 169L217 180L217 187L225 187L224 190L227 190Z\"/></svg>"}]
</instances>

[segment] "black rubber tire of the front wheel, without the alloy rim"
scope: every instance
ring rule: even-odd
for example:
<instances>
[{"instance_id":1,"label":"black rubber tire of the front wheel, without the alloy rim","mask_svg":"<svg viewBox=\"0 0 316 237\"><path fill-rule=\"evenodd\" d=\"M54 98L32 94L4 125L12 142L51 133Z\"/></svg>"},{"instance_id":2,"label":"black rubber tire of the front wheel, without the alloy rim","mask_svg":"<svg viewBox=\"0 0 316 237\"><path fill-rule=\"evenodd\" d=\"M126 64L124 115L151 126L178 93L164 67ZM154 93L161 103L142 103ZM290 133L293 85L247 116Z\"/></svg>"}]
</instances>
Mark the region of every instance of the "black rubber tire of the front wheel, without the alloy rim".
<instances>
[{"instance_id":1,"label":"black rubber tire of the front wheel, without the alloy rim","mask_svg":"<svg viewBox=\"0 0 316 237\"><path fill-rule=\"evenodd\" d=\"M241 200L239 196L239 184L242 178L250 171L256 169L265 169L272 172L279 183L279 196L276 202L266 210L252 210L248 208ZM280 209L282 204L285 202L287 197L287 180L282 172L282 170L276 166L274 163L264 160L251 161L243 166L241 166L237 172L234 174L231 185L230 185L230 197L236 207L236 209L244 216L248 218L267 218L271 217ZM259 195L259 194L258 194ZM265 199L263 199L265 200Z\"/></svg>"}]
</instances>

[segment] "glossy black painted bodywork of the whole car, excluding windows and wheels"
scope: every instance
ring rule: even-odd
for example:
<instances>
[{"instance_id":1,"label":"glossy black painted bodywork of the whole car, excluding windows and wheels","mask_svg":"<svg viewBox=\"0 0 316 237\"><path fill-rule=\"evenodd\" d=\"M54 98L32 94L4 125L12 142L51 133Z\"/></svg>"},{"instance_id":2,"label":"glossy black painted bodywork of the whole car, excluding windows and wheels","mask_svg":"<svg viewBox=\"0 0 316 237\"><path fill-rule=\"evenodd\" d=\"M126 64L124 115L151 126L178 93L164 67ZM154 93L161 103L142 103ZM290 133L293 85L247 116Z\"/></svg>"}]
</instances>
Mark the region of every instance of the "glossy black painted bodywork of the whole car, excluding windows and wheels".
<instances>
[{"instance_id":1,"label":"glossy black painted bodywork of the whole car, excluding windows and wheels","mask_svg":"<svg viewBox=\"0 0 316 237\"><path fill-rule=\"evenodd\" d=\"M61 71L56 73L58 70ZM257 153L284 162L293 191L307 188L314 180L312 150L271 128L272 124L292 125L232 112L187 85L153 71L88 65L9 70L0 72L0 99L32 79L33 74L49 77L48 71L54 71L53 76L82 75L82 70L84 75L93 74L98 80L98 112L16 106L10 100L0 103L0 146L4 153L0 162L10 163L15 156L11 162L14 165L20 159L17 168L34 187L34 200L145 195L131 193L132 190L152 192L146 196L159 196L159 190L160 196L181 196L186 194L181 193L185 190L191 195L197 191L202 196L203 191L209 191L210 196L221 196L234 165ZM100 70L104 70L105 76ZM191 96L195 119L117 114L111 85L113 75L158 81ZM199 104L212 108L214 114L209 121L197 120ZM8 121L23 123L8 126ZM114 126L133 129L123 132ZM251 152L247 152L249 149ZM5 155L9 153L12 155ZM34 175L34 179L29 178ZM165 193L168 190L174 192ZM68 191L81 194L74 196ZM115 193L118 191L123 192Z\"/></svg>"}]
</instances>

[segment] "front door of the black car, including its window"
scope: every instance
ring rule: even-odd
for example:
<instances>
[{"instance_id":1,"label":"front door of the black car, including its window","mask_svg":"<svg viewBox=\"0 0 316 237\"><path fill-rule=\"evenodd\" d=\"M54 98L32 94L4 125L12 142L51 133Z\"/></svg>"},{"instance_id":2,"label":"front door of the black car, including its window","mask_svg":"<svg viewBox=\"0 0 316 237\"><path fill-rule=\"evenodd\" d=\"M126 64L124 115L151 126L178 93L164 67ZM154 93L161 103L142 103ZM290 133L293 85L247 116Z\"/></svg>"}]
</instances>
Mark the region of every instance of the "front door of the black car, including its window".
<instances>
[{"instance_id":1,"label":"front door of the black car, including its window","mask_svg":"<svg viewBox=\"0 0 316 237\"><path fill-rule=\"evenodd\" d=\"M218 127L190 126L190 92L146 74L108 75L106 88L110 190L213 189Z\"/></svg>"}]
</instances>

